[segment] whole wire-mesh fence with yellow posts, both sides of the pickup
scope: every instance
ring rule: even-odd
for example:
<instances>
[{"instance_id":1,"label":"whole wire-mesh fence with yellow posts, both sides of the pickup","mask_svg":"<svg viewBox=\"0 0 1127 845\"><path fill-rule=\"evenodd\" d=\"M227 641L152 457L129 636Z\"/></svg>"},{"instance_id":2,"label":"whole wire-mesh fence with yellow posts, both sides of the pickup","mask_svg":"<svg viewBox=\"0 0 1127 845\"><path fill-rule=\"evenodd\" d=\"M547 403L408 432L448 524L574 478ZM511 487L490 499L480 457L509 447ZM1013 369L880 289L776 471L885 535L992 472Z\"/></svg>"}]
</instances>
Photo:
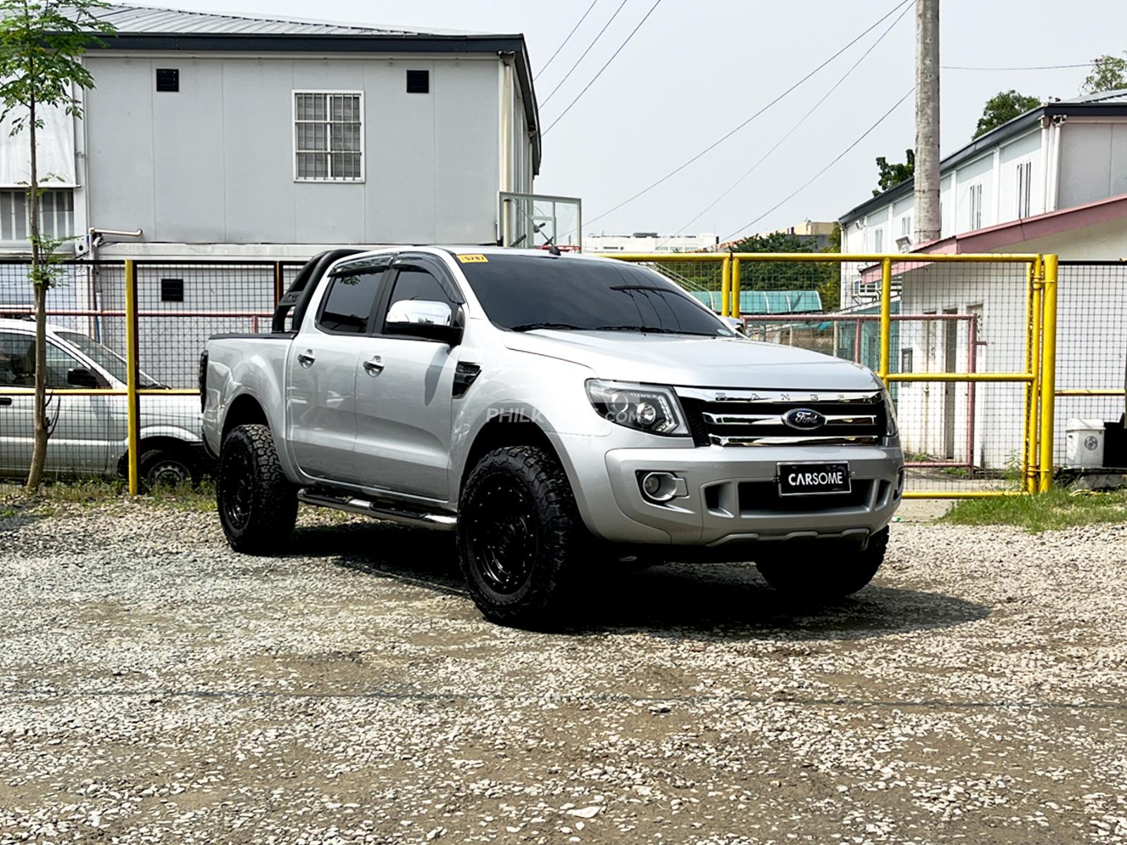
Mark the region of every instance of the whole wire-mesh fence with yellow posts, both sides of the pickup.
<instances>
[{"instance_id":1,"label":"whole wire-mesh fence with yellow posts, both sides of the pickup","mask_svg":"<svg viewBox=\"0 0 1127 845\"><path fill-rule=\"evenodd\" d=\"M1053 455L1061 465L1068 460L1068 419L1116 420L1122 412L1122 265L1065 265L1062 379L1058 391L1046 393L1040 337L1049 315L1037 256L613 257L646 263L715 310L740 315L754 339L882 374L897 406L909 492L1031 490L1033 478L1051 469L1040 451L1050 430L1044 424L1056 422ZM123 466L127 312L136 326L139 459L184 452L185 443L195 450L193 393L204 343L214 333L269 331L274 303L301 266L130 264L131 272L123 261L59 266L47 299L51 471L112 474ZM8 475L26 473L30 455L30 305L26 263L0 264L0 317L9 318L0 323L0 473ZM1062 407L1046 419L1040 415L1057 393ZM153 460L141 463L151 468Z\"/></svg>"}]
</instances>

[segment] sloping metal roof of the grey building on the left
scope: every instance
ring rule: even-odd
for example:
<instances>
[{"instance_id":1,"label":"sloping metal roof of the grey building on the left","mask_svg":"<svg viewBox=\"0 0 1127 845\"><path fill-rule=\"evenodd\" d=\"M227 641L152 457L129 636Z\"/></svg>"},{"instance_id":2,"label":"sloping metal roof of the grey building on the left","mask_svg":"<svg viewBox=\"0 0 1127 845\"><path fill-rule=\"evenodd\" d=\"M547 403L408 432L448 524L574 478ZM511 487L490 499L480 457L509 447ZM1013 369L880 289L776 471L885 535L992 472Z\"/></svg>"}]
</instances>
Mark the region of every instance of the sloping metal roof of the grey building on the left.
<instances>
[{"instance_id":1,"label":"sloping metal roof of the grey building on the left","mask_svg":"<svg viewBox=\"0 0 1127 845\"><path fill-rule=\"evenodd\" d=\"M446 29L401 29L299 18L266 18L225 12L189 11L148 6L110 3L97 17L113 24L118 33L207 34L207 35L477 35Z\"/></svg>"}]
</instances>

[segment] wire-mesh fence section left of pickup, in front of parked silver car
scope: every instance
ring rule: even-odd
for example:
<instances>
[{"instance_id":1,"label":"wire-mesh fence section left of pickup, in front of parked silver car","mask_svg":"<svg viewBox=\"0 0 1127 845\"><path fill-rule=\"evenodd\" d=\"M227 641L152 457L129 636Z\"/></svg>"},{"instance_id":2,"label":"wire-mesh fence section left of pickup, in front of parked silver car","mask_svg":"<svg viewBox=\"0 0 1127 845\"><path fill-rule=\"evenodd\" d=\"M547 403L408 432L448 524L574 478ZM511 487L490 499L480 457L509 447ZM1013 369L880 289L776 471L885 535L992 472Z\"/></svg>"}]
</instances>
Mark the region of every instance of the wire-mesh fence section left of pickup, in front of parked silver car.
<instances>
[{"instance_id":1,"label":"wire-mesh fence section left of pickup, in front of parked silver car","mask_svg":"<svg viewBox=\"0 0 1127 845\"><path fill-rule=\"evenodd\" d=\"M208 469L197 362L206 339L269 331L300 261L134 261L137 469L149 482ZM118 475L130 453L126 261L61 261L47 292L46 472ZM26 261L0 263L0 477L21 478L34 432L35 323Z\"/></svg>"}]
</instances>

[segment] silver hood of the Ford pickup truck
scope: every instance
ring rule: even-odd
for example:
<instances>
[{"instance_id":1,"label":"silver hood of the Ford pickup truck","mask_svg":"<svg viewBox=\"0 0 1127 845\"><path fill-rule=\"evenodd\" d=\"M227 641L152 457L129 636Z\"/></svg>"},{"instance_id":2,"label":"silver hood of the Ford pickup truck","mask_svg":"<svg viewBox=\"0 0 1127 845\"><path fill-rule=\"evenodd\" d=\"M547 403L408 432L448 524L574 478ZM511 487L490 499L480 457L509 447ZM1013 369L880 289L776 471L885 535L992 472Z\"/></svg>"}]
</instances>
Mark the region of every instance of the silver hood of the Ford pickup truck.
<instances>
[{"instance_id":1,"label":"silver hood of the Ford pickup truck","mask_svg":"<svg viewBox=\"0 0 1127 845\"><path fill-rule=\"evenodd\" d=\"M507 332L514 352L582 364L600 379L696 388L868 390L872 373L807 349L743 338L621 331Z\"/></svg>"}]
</instances>

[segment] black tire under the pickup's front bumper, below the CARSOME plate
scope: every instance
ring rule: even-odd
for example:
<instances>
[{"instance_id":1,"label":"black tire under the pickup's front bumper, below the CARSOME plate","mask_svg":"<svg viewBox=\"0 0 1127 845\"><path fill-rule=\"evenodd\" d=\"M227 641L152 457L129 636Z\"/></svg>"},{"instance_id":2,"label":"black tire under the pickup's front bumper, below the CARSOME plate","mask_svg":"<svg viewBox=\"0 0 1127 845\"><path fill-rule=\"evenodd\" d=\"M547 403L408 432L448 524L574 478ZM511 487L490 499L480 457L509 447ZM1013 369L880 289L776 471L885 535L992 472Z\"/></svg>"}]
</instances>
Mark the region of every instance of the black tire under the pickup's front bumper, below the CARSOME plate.
<instances>
[{"instance_id":1,"label":"black tire under the pickup's front bumper, below the CARSOME plate","mask_svg":"<svg viewBox=\"0 0 1127 845\"><path fill-rule=\"evenodd\" d=\"M817 546L810 544L814 551ZM819 550L817 560L800 554L766 558L755 562L760 575L780 593L800 598L834 599L850 596L877 575L888 548L888 528L869 537L864 549Z\"/></svg>"}]
</instances>

